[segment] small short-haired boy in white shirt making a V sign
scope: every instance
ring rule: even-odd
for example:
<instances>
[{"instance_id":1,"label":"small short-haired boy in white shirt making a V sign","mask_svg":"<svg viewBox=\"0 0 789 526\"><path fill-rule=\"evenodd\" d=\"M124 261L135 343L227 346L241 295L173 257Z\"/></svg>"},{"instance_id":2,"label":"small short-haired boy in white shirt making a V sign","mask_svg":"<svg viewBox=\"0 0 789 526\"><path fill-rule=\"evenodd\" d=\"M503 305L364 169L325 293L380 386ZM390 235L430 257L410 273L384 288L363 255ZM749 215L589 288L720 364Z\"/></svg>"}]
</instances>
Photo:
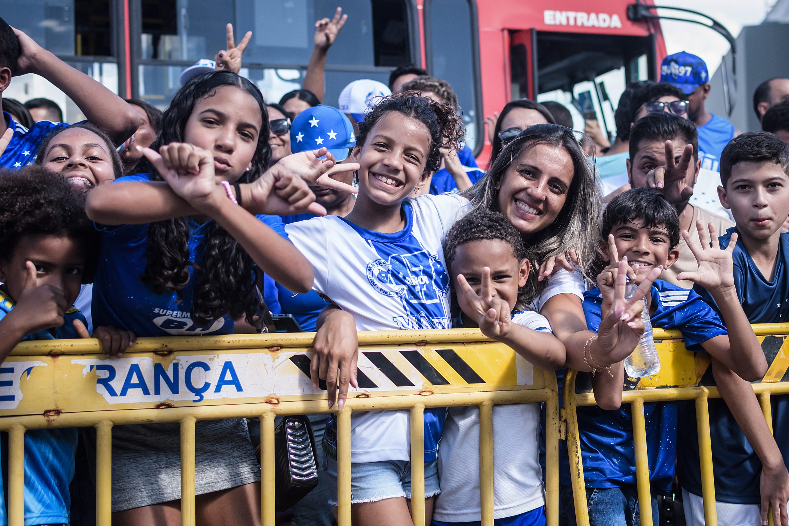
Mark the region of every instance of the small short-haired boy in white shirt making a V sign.
<instances>
[{"instance_id":1,"label":"small short-haired boy in white shirt making a V sign","mask_svg":"<svg viewBox=\"0 0 789 526\"><path fill-rule=\"evenodd\" d=\"M478 211L458 219L444 254L461 308L454 327L479 327L509 345L519 355L518 369L563 367L564 345L548 319L528 308L531 265L521 234L503 214ZM438 455L442 491L432 526L480 524L479 427L476 407L447 409ZM540 404L495 405L493 430L494 524L545 524Z\"/></svg>"}]
</instances>

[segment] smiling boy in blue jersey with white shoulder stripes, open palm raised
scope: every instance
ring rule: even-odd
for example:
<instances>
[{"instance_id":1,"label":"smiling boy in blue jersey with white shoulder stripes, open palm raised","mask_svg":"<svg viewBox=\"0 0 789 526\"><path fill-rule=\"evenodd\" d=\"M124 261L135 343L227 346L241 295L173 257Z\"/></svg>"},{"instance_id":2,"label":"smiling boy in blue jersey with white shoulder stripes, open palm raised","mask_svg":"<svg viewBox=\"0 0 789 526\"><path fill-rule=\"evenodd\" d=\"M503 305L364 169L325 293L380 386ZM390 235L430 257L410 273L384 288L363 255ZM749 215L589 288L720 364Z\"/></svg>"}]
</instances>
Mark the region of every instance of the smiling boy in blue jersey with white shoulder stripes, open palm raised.
<instances>
[{"instance_id":1,"label":"smiling boy in blue jersey with white shoulder stripes, open palm raised","mask_svg":"<svg viewBox=\"0 0 789 526\"><path fill-rule=\"evenodd\" d=\"M631 274L633 282L640 285L653 269L671 267L679 256L676 248L679 217L675 207L660 192L634 188L620 194L608 204L602 223L601 232L608 239L609 264L597 277L598 287L585 293L584 300L586 321L589 329L595 331L600 323L600 312L608 311L615 298L615 289L624 286L623 280L617 282L619 272ZM683 272L679 277L703 286L718 304L725 305L721 315L727 326L697 293L660 279L655 280L651 293L646 296L652 325L679 329L687 349L710 353L746 379L761 378L767 363L736 301L731 250L721 250L717 243L709 246L709 237L701 222L697 229L704 248L699 248L686 231L682 231L682 237L696 256L698 270ZM715 237L714 227L711 230ZM732 348L738 352L732 353ZM595 371L595 357L588 354L585 358ZM624 379L622 362L597 371L592 386L599 407L578 410L591 524L638 524L633 424L630 408L620 407ZM673 403L646 404L644 412L653 494L667 492L675 470L677 408ZM562 500L572 520L574 510L570 504L567 460L563 461L559 476L563 484ZM652 507L653 517L657 517L655 498Z\"/></svg>"}]
</instances>

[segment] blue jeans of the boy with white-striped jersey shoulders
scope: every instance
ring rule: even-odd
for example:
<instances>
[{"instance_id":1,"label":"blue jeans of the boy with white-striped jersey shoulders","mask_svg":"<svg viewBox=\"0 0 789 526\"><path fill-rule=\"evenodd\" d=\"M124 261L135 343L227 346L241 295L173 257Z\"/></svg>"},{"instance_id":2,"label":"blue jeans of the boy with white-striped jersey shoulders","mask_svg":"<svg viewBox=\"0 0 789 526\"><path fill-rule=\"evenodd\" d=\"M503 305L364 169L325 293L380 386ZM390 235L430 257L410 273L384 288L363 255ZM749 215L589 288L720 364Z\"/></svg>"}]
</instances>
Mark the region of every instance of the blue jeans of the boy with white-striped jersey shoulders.
<instances>
[{"instance_id":1,"label":"blue jeans of the boy with white-striped jersey shoulders","mask_svg":"<svg viewBox=\"0 0 789 526\"><path fill-rule=\"evenodd\" d=\"M576 526L572 488L559 486L559 500L570 526ZM586 504L589 506L589 526L641 526L638 491L634 484L608 489L588 487ZM657 499L654 494L652 520L654 524L658 522Z\"/></svg>"}]
</instances>

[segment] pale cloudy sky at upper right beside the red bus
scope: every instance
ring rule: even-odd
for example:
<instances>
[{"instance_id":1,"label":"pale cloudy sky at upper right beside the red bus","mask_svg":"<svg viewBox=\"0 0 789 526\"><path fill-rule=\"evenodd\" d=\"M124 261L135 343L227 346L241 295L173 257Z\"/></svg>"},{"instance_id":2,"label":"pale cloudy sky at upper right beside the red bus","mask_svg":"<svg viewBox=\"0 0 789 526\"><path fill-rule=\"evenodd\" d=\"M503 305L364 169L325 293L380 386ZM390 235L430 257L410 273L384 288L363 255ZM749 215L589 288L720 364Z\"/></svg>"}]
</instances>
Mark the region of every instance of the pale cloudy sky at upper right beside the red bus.
<instances>
[{"instance_id":1,"label":"pale cloudy sky at upper right beside the red bus","mask_svg":"<svg viewBox=\"0 0 789 526\"><path fill-rule=\"evenodd\" d=\"M735 38L743 25L760 24L775 2L776 0L655 0L657 6L678 6L705 13L723 24ZM690 13L665 9L659 9L658 13L669 17L693 17ZM660 25L668 53L688 51L697 54L707 63L711 76L718 69L721 57L729 50L729 44L723 36L701 25L675 21L660 21Z\"/></svg>"}]
</instances>

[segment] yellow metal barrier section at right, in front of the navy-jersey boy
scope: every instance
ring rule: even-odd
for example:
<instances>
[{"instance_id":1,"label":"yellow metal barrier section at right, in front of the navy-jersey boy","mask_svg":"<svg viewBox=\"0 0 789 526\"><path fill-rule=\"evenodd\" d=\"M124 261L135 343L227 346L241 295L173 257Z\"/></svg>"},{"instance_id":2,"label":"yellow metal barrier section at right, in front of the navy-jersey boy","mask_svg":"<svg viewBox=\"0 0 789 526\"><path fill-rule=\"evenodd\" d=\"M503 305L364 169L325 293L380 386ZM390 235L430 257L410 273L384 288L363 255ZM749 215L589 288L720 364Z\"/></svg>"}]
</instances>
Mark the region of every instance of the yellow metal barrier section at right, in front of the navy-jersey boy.
<instances>
[{"instance_id":1,"label":"yellow metal barrier section at right, in front of the navy-jersey boy","mask_svg":"<svg viewBox=\"0 0 789 526\"><path fill-rule=\"evenodd\" d=\"M789 393L789 382L782 382L789 368L789 323L765 323L754 325L761 345L768 356L774 358L769 364L765 378L753 382L753 390L761 404L768 426L772 431L770 395ZM698 430L699 461L701 464L701 491L704 498L705 524L717 524L715 509L715 483L712 472L712 446L709 433L709 398L720 398L717 387L702 382L709 367L709 355L692 353L685 349L679 331L655 330L655 344L660 355L660 372L638 381L628 379L622 396L623 404L630 404L633 417L633 436L638 485L638 509L641 524L652 526L652 504L649 488L649 461L646 450L644 420L645 402L694 400ZM776 351L777 349L777 351ZM710 376L711 377L711 376ZM596 405L591 390L579 392L576 386L578 373L569 371L563 389L563 416L567 420L567 450L570 455L570 476L573 483L575 519L579 526L589 526L586 488L581 461L581 441L578 436L577 408ZM772 526L772 517L770 517Z\"/></svg>"}]
</instances>

